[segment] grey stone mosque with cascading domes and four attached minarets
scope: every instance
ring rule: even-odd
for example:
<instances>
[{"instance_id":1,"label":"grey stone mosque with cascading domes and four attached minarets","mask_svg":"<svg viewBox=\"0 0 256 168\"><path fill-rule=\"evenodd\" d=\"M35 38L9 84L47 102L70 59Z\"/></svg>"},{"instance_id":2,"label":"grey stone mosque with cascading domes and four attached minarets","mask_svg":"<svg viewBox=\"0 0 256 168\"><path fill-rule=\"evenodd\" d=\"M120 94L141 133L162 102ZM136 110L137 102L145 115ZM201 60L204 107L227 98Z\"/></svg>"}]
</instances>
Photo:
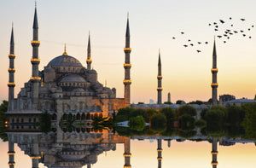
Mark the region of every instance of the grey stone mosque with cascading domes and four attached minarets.
<instances>
[{"instance_id":1,"label":"grey stone mosque with cascading domes and four attached minarets","mask_svg":"<svg viewBox=\"0 0 256 168\"><path fill-rule=\"evenodd\" d=\"M115 88L103 86L97 79L96 70L91 68L92 55L90 35L87 47L87 67L74 56L62 55L49 61L43 70L38 69L40 63L38 48L38 13L35 8L32 38L32 77L21 88L15 98L15 40L12 28L9 52L9 123L23 123L24 126L38 122L35 115L50 113L53 120L59 121L63 114L80 116L91 121L96 116L108 117L121 107L130 105L130 27L127 19L125 34L125 98L116 98ZM29 126L28 126L29 128Z\"/></svg>"}]
</instances>

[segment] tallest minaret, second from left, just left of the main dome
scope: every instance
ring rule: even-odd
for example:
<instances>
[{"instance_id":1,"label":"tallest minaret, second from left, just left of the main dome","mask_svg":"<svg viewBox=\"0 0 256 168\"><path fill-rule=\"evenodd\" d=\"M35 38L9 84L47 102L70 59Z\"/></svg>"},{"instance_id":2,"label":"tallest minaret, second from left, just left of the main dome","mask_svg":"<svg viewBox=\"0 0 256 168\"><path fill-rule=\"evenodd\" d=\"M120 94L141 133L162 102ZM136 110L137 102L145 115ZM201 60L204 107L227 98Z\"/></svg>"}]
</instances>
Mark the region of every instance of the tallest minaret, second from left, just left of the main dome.
<instances>
[{"instance_id":1,"label":"tallest minaret, second from left, just left of the main dome","mask_svg":"<svg viewBox=\"0 0 256 168\"><path fill-rule=\"evenodd\" d=\"M38 14L37 6L35 7L34 21L33 21L33 39L32 39L32 109L38 108L38 95L39 85L41 78L39 77L38 65L40 60L38 58L38 47L40 42L38 41Z\"/></svg>"}]
</instances>

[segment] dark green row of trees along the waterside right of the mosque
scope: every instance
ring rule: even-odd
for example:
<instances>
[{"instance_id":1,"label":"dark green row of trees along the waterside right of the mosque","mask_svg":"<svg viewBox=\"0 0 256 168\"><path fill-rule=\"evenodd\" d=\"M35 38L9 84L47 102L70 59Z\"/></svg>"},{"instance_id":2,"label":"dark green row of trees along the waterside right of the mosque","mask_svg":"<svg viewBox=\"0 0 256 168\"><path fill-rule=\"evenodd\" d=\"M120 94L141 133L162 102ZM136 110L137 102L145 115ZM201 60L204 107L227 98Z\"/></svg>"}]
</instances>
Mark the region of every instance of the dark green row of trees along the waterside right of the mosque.
<instances>
[{"instance_id":1,"label":"dark green row of trees along the waterside right of the mosque","mask_svg":"<svg viewBox=\"0 0 256 168\"><path fill-rule=\"evenodd\" d=\"M212 107L204 109L200 116L196 115L195 108L189 105L159 111L126 107L119 110L114 122L129 121L129 128L117 128L122 135L143 133L189 137L200 131L205 136L256 138L256 103L241 107Z\"/></svg>"}]
</instances>

